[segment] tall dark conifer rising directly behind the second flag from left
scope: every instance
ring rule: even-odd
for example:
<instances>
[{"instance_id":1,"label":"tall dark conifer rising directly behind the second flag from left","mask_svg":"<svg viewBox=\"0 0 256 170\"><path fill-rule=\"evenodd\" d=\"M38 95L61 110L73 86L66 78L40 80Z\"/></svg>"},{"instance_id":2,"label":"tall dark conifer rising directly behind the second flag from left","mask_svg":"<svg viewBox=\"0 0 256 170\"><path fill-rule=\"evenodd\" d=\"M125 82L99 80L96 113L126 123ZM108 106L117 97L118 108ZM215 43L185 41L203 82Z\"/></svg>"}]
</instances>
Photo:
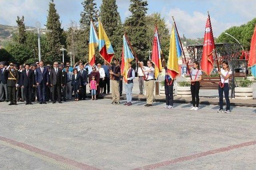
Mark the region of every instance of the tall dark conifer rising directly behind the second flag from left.
<instances>
[{"instance_id":1,"label":"tall dark conifer rising directly behind the second flag from left","mask_svg":"<svg viewBox=\"0 0 256 170\"><path fill-rule=\"evenodd\" d=\"M121 58L122 35L124 34L116 0L102 0L100 20L110 39L117 58Z\"/></svg>"}]
</instances>

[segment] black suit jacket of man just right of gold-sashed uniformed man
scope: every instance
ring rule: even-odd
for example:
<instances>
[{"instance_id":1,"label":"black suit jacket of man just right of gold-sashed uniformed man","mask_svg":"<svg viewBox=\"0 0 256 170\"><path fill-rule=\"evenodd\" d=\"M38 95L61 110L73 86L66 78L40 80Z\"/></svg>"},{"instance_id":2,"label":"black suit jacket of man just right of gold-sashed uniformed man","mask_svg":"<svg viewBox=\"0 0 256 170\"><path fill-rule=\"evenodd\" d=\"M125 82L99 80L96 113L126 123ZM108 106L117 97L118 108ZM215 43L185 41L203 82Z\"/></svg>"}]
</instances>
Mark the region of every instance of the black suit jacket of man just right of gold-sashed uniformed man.
<instances>
[{"instance_id":1,"label":"black suit jacket of man just right of gold-sashed uniformed man","mask_svg":"<svg viewBox=\"0 0 256 170\"><path fill-rule=\"evenodd\" d=\"M22 70L20 73L20 86L31 87L34 84L36 84L34 71L28 70L27 76L27 70Z\"/></svg>"}]
</instances>

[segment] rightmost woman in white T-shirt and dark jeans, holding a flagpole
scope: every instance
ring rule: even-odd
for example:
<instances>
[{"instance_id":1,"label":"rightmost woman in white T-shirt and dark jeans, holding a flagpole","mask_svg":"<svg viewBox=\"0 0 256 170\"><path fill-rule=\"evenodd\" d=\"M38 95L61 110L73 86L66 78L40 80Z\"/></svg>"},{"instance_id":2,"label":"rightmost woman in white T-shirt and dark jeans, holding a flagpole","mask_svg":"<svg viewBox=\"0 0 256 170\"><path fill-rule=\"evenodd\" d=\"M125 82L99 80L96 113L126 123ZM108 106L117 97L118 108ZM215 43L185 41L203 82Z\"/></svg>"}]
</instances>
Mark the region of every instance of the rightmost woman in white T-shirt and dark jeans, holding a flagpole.
<instances>
[{"instance_id":1,"label":"rightmost woman in white T-shirt and dark jeans, holding a flagpole","mask_svg":"<svg viewBox=\"0 0 256 170\"><path fill-rule=\"evenodd\" d=\"M221 82L219 83L219 101L220 101L220 110L218 113L223 113L223 91L225 94L225 100L226 100L226 111L225 113L230 113L230 101L229 101L229 85L228 80L230 75L232 74L232 71L229 68L227 61L222 61L222 68L220 71L218 71L218 74L220 75Z\"/></svg>"}]
</instances>

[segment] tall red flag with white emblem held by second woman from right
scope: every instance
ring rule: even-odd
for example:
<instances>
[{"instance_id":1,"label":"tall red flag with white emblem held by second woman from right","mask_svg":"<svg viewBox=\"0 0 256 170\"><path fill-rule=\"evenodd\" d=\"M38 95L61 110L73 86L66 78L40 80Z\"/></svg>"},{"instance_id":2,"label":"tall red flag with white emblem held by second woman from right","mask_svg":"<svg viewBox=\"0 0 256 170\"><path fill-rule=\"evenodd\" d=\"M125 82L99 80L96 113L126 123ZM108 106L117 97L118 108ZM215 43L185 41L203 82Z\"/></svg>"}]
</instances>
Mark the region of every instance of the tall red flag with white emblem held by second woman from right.
<instances>
[{"instance_id":1,"label":"tall red flag with white emblem held by second woman from right","mask_svg":"<svg viewBox=\"0 0 256 170\"><path fill-rule=\"evenodd\" d=\"M204 45L203 45L203 54L201 60L201 69L207 74L210 75L213 69L213 50L215 49L214 39L212 34L212 26L210 24L209 17L206 21L205 33L204 33Z\"/></svg>"}]
</instances>

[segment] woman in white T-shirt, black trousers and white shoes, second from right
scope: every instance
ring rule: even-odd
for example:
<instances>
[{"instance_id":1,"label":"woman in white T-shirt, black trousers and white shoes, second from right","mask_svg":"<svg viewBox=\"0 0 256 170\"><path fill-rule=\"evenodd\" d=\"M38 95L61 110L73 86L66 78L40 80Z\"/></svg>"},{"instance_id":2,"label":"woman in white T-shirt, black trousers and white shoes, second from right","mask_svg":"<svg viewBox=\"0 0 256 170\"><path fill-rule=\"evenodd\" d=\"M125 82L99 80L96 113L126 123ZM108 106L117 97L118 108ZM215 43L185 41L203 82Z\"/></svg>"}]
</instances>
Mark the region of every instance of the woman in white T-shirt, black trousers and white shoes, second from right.
<instances>
[{"instance_id":1,"label":"woman in white T-shirt, black trousers and white shoes, second from right","mask_svg":"<svg viewBox=\"0 0 256 170\"><path fill-rule=\"evenodd\" d=\"M198 110L199 106L199 88L200 80L202 80L202 71L200 70L199 63L197 61L193 62L193 69L191 70L191 84L190 90L192 94L193 107L190 110Z\"/></svg>"}]
</instances>

